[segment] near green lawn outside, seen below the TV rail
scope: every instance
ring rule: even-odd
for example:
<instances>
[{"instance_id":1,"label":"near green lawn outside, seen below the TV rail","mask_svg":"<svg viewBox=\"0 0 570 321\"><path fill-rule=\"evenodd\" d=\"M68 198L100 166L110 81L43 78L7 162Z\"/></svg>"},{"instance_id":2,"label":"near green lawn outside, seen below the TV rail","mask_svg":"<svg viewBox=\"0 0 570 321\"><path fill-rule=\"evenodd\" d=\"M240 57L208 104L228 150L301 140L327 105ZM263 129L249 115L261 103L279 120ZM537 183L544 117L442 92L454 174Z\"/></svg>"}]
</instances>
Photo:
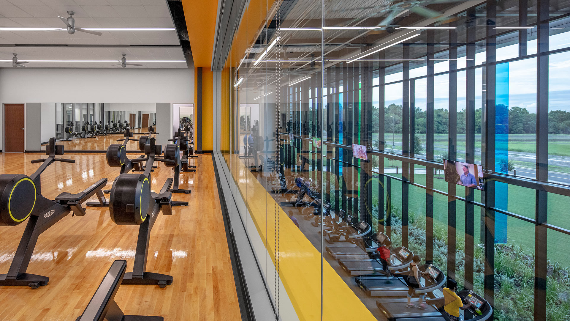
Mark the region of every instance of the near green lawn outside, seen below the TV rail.
<instances>
[{"instance_id":1,"label":"near green lawn outside, seen below the TV rail","mask_svg":"<svg viewBox=\"0 0 570 321\"><path fill-rule=\"evenodd\" d=\"M394 174L392 174L394 175ZM401 175L394 175L401 177ZM443 175L435 175L443 178ZM415 175L415 182L425 185L426 175ZM392 180L392 204L402 208L402 183ZM443 179L434 179L434 188L441 191L447 191L447 182ZM457 186L457 194L465 195L465 187ZM377 195L378 191L373 190L373 195ZM481 191L475 191L475 201L481 200ZM465 235L465 203L461 200L456 202L456 220L457 235L463 237ZM410 186L409 187L409 210L418 215L426 213L426 191L424 188ZM548 195L548 223L570 228L570 220L568 220L568 208L570 208L570 198L560 195ZM447 226L447 197L441 194L434 194L434 226L446 228ZM534 218L535 216L535 191L529 188L508 186L508 206L506 210L515 214ZM499 214L498 214L499 215ZM482 243L479 240L481 232L481 210L475 206L474 215L475 242ZM535 226L532 223L525 222L520 219L507 217L507 237L512 243L520 244L528 253L534 252ZM564 267L570 267L570 252L565 250L566 245L570 242L570 236L561 232L548 231L548 258L557 260ZM561 249L564 249L560 251Z\"/></svg>"}]
</instances>

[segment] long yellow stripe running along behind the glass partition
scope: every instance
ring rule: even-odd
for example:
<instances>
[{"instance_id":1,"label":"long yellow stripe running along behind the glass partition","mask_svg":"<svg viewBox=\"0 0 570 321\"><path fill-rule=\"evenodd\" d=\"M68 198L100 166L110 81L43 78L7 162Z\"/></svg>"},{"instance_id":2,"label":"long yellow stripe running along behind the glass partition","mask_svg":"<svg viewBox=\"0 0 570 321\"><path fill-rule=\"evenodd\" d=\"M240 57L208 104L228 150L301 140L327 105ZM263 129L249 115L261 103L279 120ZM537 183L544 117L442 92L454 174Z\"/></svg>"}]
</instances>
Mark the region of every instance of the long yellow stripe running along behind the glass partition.
<instances>
[{"instance_id":1,"label":"long yellow stripe running along behind the glass partition","mask_svg":"<svg viewBox=\"0 0 570 321\"><path fill-rule=\"evenodd\" d=\"M320 320L320 252L282 208L276 206L271 194L251 174L238 155L225 154L224 158L274 264L277 208L280 222L277 240L279 275L283 286L300 320ZM323 288L323 320L376 320L326 260L323 266Z\"/></svg>"}]
</instances>

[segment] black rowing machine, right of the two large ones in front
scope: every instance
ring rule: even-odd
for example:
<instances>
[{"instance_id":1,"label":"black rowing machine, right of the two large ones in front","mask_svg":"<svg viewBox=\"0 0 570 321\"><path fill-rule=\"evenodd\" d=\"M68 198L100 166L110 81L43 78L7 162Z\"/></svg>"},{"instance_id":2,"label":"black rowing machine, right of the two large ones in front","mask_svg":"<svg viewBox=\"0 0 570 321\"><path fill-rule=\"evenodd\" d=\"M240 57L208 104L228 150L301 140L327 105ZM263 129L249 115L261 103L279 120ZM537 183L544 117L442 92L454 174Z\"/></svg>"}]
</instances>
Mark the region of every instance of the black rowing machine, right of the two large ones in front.
<instances>
[{"instance_id":1,"label":"black rowing machine, right of the two large ones in front","mask_svg":"<svg viewBox=\"0 0 570 321\"><path fill-rule=\"evenodd\" d=\"M146 158L132 160L132 162L146 162L145 172L120 174L111 188L109 214L113 222L119 225L139 225L135 266L133 272L125 273L122 284L158 284L160 287L172 284L170 275L145 271L150 230L156 222L158 212L172 215L172 194L169 192L172 178L166 179L158 194L152 192L150 188L153 163L157 160L166 164L174 163L174 160L157 158L161 151L162 146L156 145L155 139L150 138L148 145L145 145Z\"/></svg>"}]
</instances>

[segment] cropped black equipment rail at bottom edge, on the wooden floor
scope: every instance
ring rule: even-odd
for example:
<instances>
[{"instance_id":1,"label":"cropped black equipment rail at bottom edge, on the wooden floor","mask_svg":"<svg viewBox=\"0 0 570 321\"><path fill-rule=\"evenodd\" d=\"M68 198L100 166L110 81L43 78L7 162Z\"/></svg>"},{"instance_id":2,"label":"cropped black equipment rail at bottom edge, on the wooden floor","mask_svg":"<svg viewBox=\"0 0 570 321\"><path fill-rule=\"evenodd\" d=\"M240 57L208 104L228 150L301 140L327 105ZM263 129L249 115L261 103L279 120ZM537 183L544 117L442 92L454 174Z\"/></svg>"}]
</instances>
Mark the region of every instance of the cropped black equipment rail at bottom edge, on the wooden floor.
<instances>
[{"instance_id":1,"label":"cropped black equipment rail at bottom edge, on the wooden floor","mask_svg":"<svg viewBox=\"0 0 570 321\"><path fill-rule=\"evenodd\" d=\"M115 260L99 284L93 298L75 321L164 321L162 316L125 315L115 302L115 295L123 282L127 261Z\"/></svg>"}]
</instances>

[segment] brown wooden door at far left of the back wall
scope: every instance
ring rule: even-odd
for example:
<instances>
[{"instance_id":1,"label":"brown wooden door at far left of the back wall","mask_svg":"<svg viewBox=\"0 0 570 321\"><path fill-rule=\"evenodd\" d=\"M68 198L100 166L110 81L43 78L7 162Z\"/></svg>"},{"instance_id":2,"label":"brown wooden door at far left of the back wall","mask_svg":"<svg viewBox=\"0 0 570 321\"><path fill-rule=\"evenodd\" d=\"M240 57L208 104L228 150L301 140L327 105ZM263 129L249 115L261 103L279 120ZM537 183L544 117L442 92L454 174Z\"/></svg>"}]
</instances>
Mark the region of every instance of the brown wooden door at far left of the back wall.
<instances>
[{"instance_id":1,"label":"brown wooden door at far left of the back wall","mask_svg":"<svg viewBox=\"0 0 570 321\"><path fill-rule=\"evenodd\" d=\"M4 105L4 151L24 151L24 104Z\"/></svg>"}]
</instances>

